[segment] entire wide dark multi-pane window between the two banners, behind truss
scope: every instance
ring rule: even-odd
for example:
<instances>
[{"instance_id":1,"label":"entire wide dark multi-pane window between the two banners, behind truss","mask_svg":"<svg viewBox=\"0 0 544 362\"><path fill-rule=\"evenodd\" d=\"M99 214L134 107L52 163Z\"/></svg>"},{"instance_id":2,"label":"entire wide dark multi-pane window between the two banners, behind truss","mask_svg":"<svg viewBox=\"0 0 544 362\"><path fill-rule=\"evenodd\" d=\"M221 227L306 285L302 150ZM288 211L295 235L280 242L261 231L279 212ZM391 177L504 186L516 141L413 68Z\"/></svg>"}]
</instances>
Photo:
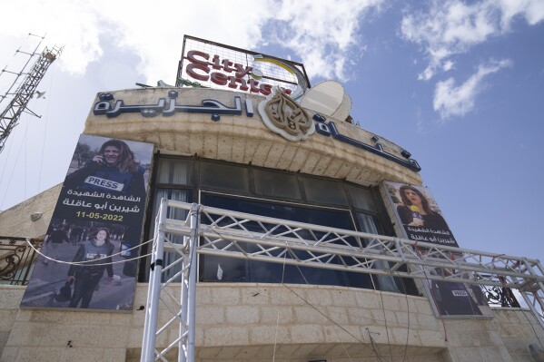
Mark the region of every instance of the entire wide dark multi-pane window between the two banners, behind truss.
<instances>
[{"instance_id":1,"label":"entire wide dark multi-pane window between the two banners, behind truss","mask_svg":"<svg viewBox=\"0 0 544 362\"><path fill-rule=\"evenodd\" d=\"M198 177L194 177L197 170ZM369 188L294 172L264 170L251 165L236 165L221 161L163 157L157 161L154 175L153 211L148 238L153 238L154 217L162 198L192 202L225 210L236 210L277 219L295 220L345 230L361 230L384 235L391 230L383 205L376 204ZM200 194L199 197L196 195ZM172 211L171 211L172 212ZM182 212L177 210L176 212ZM174 216L174 215L171 215ZM175 215L185 218L186 215ZM149 221L148 221L149 222ZM244 224L252 228L251 223ZM173 242L180 237L170 237ZM309 238L310 239L310 238ZM367 243L372 240L365 240ZM353 240L355 244L356 240ZM251 244L240 244L252 251ZM176 256L165 261L173 262ZM289 258L289 257L288 257ZM292 256L291 256L292 258ZM340 263L340 260L332 260ZM386 262L378 263L389 268ZM181 268L181 266L180 266ZM149 261L141 280L148 278ZM171 274L179 268L172 268ZM168 278L168 276L166 277ZM405 290L399 279L370 276L347 271L297 267L286 264L232 259L216 255L199 257L200 281L310 283L339 285L398 292ZM409 286L410 287L410 286ZM409 288L410 289L410 288Z\"/></svg>"}]
</instances>

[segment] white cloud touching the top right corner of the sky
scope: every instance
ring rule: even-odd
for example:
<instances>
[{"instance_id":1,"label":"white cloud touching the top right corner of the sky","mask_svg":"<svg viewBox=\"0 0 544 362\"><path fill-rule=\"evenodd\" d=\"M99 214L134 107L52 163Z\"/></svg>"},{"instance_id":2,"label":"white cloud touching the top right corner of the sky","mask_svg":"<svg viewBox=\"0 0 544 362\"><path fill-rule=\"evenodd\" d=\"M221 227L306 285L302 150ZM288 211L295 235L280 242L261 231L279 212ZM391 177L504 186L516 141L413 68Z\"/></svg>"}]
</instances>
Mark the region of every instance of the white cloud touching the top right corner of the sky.
<instances>
[{"instance_id":1,"label":"white cloud touching the top right corner of the sky","mask_svg":"<svg viewBox=\"0 0 544 362\"><path fill-rule=\"evenodd\" d=\"M509 31L510 24L522 16L529 24L544 20L541 0L483 0L465 4L460 0L433 0L426 12L405 15L402 36L420 44L429 55L420 80L429 80L437 72L449 70L450 56L467 52L492 36Z\"/></svg>"}]
</instances>

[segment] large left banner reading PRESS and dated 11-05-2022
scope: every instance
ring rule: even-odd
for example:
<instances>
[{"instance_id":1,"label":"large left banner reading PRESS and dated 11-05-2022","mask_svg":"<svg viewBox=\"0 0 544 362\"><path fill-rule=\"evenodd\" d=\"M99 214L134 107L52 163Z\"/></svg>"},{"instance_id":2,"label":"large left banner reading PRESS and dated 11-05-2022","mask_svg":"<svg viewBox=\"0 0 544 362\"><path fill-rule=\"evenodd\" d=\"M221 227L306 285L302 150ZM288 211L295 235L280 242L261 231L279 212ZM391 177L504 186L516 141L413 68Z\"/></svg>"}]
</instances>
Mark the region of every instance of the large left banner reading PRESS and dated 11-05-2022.
<instances>
[{"instance_id":1,"label":"large left banner reading PRESS and dated 11-05-2022","mask_svg":"<svg viewBox=\"0 0 544 362\"><path fill-rule=\"evenodd\" d=\"M132 310L152 158L151 143L80 136L22 308Z\"/></svg>"}]
</instances>

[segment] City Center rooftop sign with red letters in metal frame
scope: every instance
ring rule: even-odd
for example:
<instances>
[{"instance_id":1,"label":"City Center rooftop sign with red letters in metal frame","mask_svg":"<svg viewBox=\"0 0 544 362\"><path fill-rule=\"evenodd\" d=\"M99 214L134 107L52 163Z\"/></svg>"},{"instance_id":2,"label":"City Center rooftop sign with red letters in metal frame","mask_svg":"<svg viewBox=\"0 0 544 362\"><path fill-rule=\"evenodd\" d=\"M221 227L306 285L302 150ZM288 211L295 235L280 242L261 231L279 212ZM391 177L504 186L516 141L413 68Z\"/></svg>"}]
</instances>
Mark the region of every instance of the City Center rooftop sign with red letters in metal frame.
<instances>
[{"instance_id":1,"label":"City Center rooftop sign with red letters in metal frame","mask_svg":"<svg viewBox=\"0 0 544 362\"><path fill-rule=\"evenodd\" d=\"M310 87L300 63L185 35L176 86L269 95L278 86L293 99Z\"/></svg>"}]
</instances>

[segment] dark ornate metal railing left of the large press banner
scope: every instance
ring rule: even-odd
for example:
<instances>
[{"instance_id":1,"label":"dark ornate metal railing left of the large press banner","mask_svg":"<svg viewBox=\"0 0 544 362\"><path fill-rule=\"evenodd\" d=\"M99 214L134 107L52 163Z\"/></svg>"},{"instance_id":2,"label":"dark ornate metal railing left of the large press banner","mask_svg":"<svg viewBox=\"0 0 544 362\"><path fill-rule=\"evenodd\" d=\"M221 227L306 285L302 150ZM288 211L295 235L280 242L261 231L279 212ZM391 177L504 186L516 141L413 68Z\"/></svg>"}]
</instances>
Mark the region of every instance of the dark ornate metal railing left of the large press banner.
<instances>
[{"instance_id":1,"label":"dark ornate metal railing left of the large press banner","mask_svg":"<svg viewBox=\"0 0 544 362\"><path fill-rule=\"evenodd\" d=\"M29 239L36 249L42 247L42 241ZM37 257L25 238L0 236L0 284L28 284Z\"/></svg>"}]
</instances>

